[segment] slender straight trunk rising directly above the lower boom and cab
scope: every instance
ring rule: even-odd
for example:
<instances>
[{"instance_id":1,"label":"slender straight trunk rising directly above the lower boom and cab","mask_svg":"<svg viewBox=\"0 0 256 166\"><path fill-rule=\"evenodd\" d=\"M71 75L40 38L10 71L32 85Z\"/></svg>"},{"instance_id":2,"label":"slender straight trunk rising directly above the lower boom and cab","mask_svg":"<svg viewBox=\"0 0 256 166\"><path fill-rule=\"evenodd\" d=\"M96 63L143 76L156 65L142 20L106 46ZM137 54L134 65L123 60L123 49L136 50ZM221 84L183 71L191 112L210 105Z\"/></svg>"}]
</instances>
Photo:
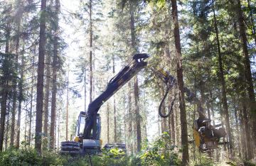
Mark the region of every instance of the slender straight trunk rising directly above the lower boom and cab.
<instances>
[{"instance_id":1,"label":"slender straight trunk rising directly above the lower boom and cab","mask_svg":"<svg viewBox=\"0 0 256 166\"><path fill-rule=\"evenodd\" d=\"M93 79L93 73L92 73L92 0L89 1L89 17L90 17L90 103L92 102L92 79Z\"/></svg>"}]
</instances>

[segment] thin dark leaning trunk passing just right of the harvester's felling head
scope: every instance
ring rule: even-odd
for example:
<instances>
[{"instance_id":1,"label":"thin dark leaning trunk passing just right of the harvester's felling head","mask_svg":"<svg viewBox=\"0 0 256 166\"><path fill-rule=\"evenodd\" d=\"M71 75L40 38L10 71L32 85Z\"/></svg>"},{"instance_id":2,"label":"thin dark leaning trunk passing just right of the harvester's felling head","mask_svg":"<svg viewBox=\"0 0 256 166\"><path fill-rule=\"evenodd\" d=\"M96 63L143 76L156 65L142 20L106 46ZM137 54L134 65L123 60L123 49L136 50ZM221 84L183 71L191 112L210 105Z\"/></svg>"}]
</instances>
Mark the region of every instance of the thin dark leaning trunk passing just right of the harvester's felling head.
<instances>
[{"instance_id":1,"label":"thin dark leaning trunk passing just right of the harvester's felling head","mask_svg":"<svg viewBox=\"0 0 256 166\"><path fill-rule=\"evenodd\" d=\"M219 63L219 70L220 70L219 76L220 76L220 82L222 85L221 92L222 92L223 109L224 109L224 114L225 114L225 126L226 126L226 130L228 131L228 143L229 143L228 145L230 148L230 154L232 155L233 140L232 140L232 134L231 134L231 128L230 128L227 92L226 92L226 87L225 87L223 60L222 60L222 55L220 52L220 40L219 40L219 36L218 36L218 26L217 26L217 20L216 20L216 16L215 16L214 0L213 0L213 18L214 18L215 35L216 35L217 47L218 47L218 63Z\"/></svg>"}]
</instances>

